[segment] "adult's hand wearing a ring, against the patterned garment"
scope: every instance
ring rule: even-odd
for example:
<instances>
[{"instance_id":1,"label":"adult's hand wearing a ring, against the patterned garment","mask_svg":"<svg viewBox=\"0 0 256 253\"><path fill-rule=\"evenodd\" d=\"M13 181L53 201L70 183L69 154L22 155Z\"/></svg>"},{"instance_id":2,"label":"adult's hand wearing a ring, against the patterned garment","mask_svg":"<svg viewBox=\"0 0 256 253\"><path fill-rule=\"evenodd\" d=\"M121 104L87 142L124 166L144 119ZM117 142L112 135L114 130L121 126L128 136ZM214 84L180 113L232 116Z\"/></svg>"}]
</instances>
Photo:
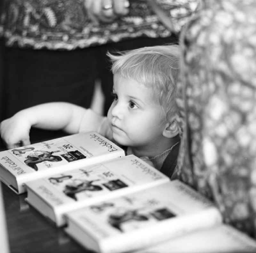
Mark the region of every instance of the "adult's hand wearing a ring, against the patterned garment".
<instances>
[{"instance_id":1,"label":"adult's hand wearing a ring, against the patterned garment","mask_svg":"<svg viewBox=\"0 0 256 253\"><path fill-rule=\"evenodd\" d=\"M112 22L129 12L128 0L84 0L84 5L94 22Z\"/></svg>"}]
</instances>

